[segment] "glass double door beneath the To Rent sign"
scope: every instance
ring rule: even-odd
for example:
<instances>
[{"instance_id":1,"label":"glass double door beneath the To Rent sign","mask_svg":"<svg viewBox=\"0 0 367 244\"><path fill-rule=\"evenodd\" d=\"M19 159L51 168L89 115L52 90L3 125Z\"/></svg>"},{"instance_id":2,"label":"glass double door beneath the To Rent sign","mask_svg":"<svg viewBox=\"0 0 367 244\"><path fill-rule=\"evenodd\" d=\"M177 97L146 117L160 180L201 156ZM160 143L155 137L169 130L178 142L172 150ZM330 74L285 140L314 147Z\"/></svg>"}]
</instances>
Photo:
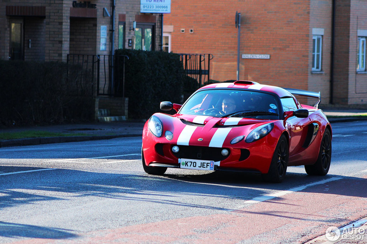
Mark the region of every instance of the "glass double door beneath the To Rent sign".
<instances>
[{"instance_id":1,"label":"glass double door beneath the To Rent sign","mask_svg":"<svg viewBox=\"0 0 367 244\"><path fill-rule=\"evenodd\" d=\"M154 50L154 25L137 24L135 28L134 49L144 51Z\"/></svg>"}]
</instances>

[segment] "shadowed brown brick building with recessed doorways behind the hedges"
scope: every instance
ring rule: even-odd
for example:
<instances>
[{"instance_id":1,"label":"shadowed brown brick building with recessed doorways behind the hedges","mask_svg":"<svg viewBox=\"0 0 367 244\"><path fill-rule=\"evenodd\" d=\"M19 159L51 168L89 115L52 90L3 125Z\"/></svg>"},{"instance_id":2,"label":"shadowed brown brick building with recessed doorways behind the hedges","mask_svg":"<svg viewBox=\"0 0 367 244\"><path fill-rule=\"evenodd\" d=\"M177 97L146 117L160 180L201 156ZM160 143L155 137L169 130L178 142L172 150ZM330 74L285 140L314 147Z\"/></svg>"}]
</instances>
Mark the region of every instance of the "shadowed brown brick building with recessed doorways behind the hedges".
<instances>
[{"instance_id":1,"label":"shadowed brown brick building with recessed doorways behind the hedges","mask_svg":"<svg viewBox=\"0 0 367 244\"><path fill-rule=\"evenodd\" d=\"M114 48L159 50L159 15L141 14L139 0L8 0L0 3L0 58L66 61L70 53L108 55L113 2Z\"/></svg>"}]
</instances>

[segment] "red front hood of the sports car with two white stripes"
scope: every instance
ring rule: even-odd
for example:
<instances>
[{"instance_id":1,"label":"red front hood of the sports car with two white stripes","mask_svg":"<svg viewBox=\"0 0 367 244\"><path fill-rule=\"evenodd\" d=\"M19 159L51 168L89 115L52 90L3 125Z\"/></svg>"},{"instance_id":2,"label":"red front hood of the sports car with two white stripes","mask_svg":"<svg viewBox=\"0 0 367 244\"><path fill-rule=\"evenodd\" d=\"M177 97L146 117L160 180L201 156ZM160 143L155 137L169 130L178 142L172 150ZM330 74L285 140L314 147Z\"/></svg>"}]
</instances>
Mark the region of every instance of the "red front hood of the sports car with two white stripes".
<instances>
[{"instance_id":1,"label":"red front hood of the sports car with two white stripes","mask_svg":"<svg viewBox=\"0 0 367 244\"><path fill-rule=\"evenodd\" d=\"M217 118L203 115L167 115L157 113L163 123L163 134L173 133L170 143L204 147L233 147L230 141L246 136L256 127L269 120L248 118ZM162 138L166 140L166 138ZM168 141L167 141L168 142Z\"/></svg>"}]
</instances>

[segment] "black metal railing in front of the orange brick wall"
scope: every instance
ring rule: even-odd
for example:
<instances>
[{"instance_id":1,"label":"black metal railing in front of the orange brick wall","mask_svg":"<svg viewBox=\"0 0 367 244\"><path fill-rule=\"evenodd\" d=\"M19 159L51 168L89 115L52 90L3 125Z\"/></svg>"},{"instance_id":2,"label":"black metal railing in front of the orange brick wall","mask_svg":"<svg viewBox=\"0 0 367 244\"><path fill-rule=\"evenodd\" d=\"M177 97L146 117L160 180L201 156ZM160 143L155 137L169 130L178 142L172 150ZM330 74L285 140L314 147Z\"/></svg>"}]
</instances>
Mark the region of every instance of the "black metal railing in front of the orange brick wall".
<instances>
[{"instance_id":1,"label":"black metal railing in front of the orange brick wall","mask_svg":"<svg viewBox=\"0 0 367 244\"><path fill-rule=\"evenodd\" d=\"M212 54L181 53L180 55L186 74L197 80L199 87L210 80L210 60L214 58Z\"/></svg>"}]
</instances>

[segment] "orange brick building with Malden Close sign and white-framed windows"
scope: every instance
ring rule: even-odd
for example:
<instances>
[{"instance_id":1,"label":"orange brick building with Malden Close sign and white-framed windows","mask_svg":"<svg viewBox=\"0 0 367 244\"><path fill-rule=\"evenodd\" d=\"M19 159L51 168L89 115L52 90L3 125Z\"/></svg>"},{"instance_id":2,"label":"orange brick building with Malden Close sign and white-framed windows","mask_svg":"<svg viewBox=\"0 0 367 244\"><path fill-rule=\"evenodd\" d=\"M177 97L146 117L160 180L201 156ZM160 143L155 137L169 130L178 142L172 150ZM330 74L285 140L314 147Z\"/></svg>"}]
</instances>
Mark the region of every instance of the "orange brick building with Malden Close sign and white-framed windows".
<instances>
[{"instance_id":1,"label":"orange brick building with Malden Close sign and white-framed windows","mask_svg":"<svg viewBox=\"0 0 367 244\"><path fill-rule=\"evenodd\" d=\"M367 103L367 1L171 0L164 43L211 53L210 79L235 80L236 11L240 80L320 91L322 104Z\"/></svg>"}]
</instances>

